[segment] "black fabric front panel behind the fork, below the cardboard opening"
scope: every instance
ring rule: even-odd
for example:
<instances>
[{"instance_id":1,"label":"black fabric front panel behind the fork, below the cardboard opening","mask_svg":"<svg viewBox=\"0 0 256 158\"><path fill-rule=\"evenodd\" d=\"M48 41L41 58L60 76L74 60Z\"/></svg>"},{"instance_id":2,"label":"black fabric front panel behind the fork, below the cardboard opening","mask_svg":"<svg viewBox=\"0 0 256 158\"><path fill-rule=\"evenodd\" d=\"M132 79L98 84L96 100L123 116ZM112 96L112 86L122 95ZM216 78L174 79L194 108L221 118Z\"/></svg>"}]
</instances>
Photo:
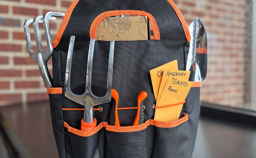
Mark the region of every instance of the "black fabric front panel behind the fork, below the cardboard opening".
<instances>
[{"instance_id":1,"label":"black fabric front panel behind the fork, below the cardboard opening","mask_svg":"<svg viewBox=\"0 0 256 158\"><path fill-rule=\"evenodd\" d=\"M115 41L112 89L119 94L118 107L137 107L137 97L142 91L147 92L144 101L144 122L153 119L155 97L149 71L167 62L178 60L178 69L184 70L184 46L186 41ZM92 92L104 96L107 88L107 68L109 41L96 41L93 56ZM67 59L69 44L59 44L61 60ZM71 90L75 94L85 92L89 42L74 45L71 66ZM187 53L187 52L186 52ZM61 62L62 87L65 82L66 62ZM63 108L84 108L62 95ZM101 104L103 112L95 111L97 122L108 122L112 102ZM95 108L99 107L96 106ZM64 121L80 129L83 111L63 111ZM120 126L131 126L137 111L119 110Z\"/></svg>"}]
</instances>

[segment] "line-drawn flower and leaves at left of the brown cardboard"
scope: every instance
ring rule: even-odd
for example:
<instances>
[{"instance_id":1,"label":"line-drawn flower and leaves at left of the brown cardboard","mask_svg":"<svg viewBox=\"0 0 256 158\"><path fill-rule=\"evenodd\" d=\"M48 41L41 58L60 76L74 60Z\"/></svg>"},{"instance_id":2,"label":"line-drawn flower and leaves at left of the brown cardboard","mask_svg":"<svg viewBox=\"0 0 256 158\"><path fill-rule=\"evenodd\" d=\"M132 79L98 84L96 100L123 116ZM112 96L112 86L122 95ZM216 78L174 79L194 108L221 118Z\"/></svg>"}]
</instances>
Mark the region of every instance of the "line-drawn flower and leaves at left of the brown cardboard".
<instances>
[{"instance_id":1,"label":"line-drawn flower and leaves at left of the brown cardboard","mask_svg":"<svg viewBox=\"0 0 256 158\"><path fill-rule=\"evenodd\" d=\"M105 28L112 37L117 36L119 38L119 33L125 33L131 29L131 21L128 17L105 18L103 25L98 25L98 27Z\"/></svg>"}]
</instances>

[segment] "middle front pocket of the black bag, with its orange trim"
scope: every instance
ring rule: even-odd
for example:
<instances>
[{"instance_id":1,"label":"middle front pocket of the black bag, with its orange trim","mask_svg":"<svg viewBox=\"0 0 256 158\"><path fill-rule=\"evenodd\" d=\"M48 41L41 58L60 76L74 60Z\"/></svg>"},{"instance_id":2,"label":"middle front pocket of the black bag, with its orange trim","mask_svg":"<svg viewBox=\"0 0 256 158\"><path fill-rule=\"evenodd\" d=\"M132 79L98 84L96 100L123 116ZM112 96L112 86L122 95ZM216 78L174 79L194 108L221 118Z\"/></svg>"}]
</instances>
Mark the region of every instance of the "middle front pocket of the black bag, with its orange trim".
<instances>
[{"instance_id":1,"label":"middle front pocket of the black bag, with its orange trim","mask_svg":"<svg viewBox=\"0 0 256 158\"><path fill-rule=\"evenodd\" d=\"M106 158L146 158L149 120L137 126L106 126Z\"/></svg>"}]
</instances>

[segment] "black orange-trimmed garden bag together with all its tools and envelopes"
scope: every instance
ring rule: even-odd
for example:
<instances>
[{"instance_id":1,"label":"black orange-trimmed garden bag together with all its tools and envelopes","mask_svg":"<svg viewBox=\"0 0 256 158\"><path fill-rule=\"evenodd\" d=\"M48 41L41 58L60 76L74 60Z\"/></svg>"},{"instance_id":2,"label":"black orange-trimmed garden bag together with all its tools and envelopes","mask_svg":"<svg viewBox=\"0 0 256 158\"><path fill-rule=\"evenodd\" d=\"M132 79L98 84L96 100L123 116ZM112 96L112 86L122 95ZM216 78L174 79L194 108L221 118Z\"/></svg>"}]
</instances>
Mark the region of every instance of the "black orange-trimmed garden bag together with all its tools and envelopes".
<instances>
[{"instance_id":1,"label":"black orange-trimmed garden bag together with all its tools and envelopes","mask_svg":"<svg viewBox=\"0 0 256 158\"><path fill-rule=\"evenodd\" d=\"M141 18L132 22L121 15ZM52 41L49 20L55 17L63 21ZM141 40L129 41L131 30ZM206 32L198 18L189 29L172 0L74 0L66 14L27 20L24 31L49 94L60 158L191 157L207 67ZM51 56L53 77L47 68Z\"/></svg>"}]
</instances>

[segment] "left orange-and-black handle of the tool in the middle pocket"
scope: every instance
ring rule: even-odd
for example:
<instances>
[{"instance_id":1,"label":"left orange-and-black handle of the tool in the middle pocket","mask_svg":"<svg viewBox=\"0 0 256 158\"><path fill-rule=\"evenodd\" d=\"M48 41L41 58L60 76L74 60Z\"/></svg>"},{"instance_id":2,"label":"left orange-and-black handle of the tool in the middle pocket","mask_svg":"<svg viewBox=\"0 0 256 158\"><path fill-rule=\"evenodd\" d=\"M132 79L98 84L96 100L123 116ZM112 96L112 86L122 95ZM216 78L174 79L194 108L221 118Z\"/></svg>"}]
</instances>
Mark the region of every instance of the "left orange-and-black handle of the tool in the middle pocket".
<instances>
[{"instance_id":1,"label":"left orange-and-black handle of the tool in the middle pocket","mask_svg":"<svg viewBox=\"0 0 256 158\"><path fill-rule=\"evenodd\" d=\"M117 114L117 106L118 106L119 96L118 96L118 93L115 89L112 89L111 97L112 97L112 99L111 99L112 100L112 107L111 107L111 111L110 111L109 125L120 127L118 114Z\"/></svg>"}]
</instances>

